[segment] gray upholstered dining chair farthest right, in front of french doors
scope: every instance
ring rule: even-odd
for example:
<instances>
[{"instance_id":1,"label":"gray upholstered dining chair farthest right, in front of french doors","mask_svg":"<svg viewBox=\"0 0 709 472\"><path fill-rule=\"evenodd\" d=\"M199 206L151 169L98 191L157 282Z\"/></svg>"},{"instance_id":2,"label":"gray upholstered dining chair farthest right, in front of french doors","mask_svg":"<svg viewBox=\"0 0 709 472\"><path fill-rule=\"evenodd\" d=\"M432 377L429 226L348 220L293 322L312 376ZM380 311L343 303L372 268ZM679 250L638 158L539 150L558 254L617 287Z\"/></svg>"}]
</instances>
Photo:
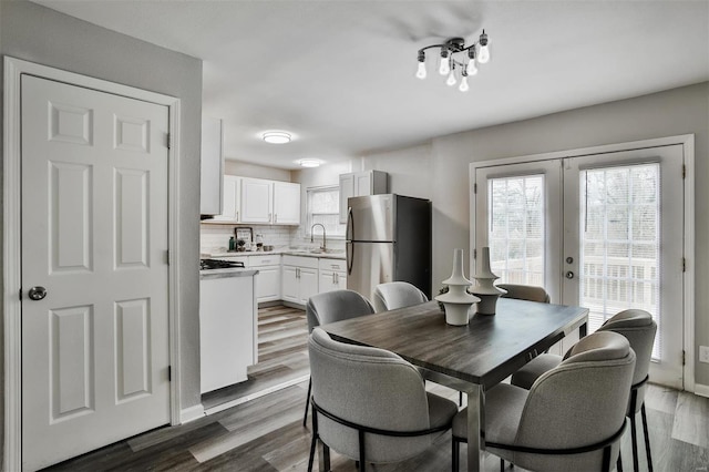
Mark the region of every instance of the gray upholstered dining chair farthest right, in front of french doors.
<instances>
[{"instance_id":1,"label":"gray upholstered dining chair farthest right, in front of french doors","mask_svg":"<svg viewBox=\"0 0 709 472\"><path fill-rule=\"evenodd\" d=\"M608 318L596 332L599 331L614 331L625 336L637 356L627 410L627 415L630 418L630 434L633 439L633 468L635 471L639 470L636 417L637 413L640 413L648 470L653 471L650 438L645 412L645 391L647 388L646 383L650 369L657 324L653 320L653 316L649 312L639 309L628 309ZM562 360L562 357L555 355L537 356L512 376L512 384L528 389L542 373L558 366Z\"/></svg>"}]
</instances>

